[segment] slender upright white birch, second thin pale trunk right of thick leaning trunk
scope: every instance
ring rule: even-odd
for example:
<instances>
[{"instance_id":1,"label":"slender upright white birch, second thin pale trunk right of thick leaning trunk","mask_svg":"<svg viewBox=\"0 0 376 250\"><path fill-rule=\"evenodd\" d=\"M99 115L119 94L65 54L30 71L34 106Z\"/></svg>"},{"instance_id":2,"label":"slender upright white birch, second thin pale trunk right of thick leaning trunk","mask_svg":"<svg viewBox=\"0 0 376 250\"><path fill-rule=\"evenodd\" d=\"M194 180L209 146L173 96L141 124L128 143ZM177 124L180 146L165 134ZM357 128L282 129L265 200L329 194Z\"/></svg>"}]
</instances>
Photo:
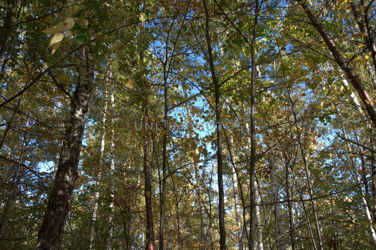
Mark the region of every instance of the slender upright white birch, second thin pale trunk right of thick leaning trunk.
<instances>
[{"instance_id":1,"label":"slender upright white birch, second thin pale trunk right of thick leaning trunk","mask_svg":"<svg viewBox=\"0 0 376 250\"><path fill-rule=\"evenodd\" d=\"M114 149L115 149L115 132L114 132L114 115L115 115L115 96L114 96L114 86L112 84L112 93L111 93L111 149L110 149L110 173L109 173L109 182L110 182L110 204L109 204L109 215L108 215L108 222L107 222L107 238L105 249L111 250L112 249L112 238L114 236L114 222L112 221L114 218L114 172L115 172L115 157L114 157Z\"/></svg>"}]
</instances>

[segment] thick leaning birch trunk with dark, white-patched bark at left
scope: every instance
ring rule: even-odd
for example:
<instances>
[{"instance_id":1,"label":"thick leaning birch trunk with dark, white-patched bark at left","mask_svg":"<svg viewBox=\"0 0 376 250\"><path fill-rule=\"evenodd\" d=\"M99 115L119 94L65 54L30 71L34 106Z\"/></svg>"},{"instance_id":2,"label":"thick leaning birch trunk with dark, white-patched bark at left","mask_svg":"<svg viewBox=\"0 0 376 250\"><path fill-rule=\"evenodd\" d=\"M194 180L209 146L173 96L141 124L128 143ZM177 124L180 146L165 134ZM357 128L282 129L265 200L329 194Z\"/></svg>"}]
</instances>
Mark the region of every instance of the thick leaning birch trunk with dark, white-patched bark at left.
<instances>
[{"instance_id":1,"label":"thick leaning birch trunk with dark, white-patched bark at left","mask_svg":"<svg viewBox=\"0 0 376 250\"><path fill-rule=\"evenodd\" d=\"M35 250L58 250L61 245L74 182L78 177L77 167L94 78L94 55L94 42L91 42L88 48L82 47L78 81L74 96L71 98L67 125L65 125L59 167L38 233Z\"/></svg>"}]
</instances>

